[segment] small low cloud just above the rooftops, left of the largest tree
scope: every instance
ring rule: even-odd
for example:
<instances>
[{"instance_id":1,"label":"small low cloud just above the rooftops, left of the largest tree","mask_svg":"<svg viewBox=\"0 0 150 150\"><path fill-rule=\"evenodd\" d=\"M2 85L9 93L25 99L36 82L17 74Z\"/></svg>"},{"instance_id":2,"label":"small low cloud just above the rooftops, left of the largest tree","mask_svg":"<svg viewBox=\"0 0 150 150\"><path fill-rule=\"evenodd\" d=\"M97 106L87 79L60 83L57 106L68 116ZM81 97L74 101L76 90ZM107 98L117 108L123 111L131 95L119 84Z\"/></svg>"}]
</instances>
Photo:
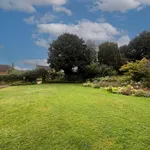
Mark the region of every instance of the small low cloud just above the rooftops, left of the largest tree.
<instances>
[{"instance_id":1,"label":"small low cloud just above the rooftops, left of the largest tree","mask_svg":"<svg viewBox=\"0 0 150 150\"><path fill-rule=\"evenodd\" d=\"M36 67L36 65L48 66L46 59L23 60L23 64Z\"/></svg>"}]
</instances>

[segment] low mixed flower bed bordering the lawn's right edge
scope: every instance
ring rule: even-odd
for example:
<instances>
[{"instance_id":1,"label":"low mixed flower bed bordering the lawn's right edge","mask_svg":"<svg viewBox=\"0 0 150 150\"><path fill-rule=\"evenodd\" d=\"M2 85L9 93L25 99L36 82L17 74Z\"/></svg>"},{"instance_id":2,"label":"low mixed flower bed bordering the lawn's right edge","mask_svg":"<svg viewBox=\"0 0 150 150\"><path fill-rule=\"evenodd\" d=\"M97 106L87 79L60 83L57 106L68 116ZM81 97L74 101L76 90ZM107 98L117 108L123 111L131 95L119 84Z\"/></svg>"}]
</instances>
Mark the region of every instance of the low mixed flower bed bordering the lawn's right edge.
<instances>
[{"instance_id":1,"label":"low mixed flower bed bordering the lawn's right edge","mask_svg":"<svg viewBox=\"0 0 150 150\"><path fill-rule=\"evenodd\" d=\"M83 84L84 87L104 88L105 90L122 95L149 97L149 89L144 89L142 82L134 82L129 76L112 76L95 78Z\"/></svg>"}]
</instances>

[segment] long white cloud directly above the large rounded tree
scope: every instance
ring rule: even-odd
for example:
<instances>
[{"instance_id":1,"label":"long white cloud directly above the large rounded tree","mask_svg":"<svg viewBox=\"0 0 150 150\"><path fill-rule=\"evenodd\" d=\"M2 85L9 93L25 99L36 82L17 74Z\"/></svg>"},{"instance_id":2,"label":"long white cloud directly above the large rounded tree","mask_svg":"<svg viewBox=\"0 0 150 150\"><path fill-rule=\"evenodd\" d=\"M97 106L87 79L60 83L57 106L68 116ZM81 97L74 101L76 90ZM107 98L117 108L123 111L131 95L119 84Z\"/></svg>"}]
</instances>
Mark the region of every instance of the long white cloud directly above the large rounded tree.
<instances>
[{"instance_id":1,"label":"long white cloud directly above the large rounded tree","mask_svg":"<svg viewBox=\"0 0 150 150\"><path fill-rule=\"evenodd\" d=\"M51 36L57 37L62 33L69 32L77 34L85 40L93 40L103 42L113 40L116 35L119 35L117 28L109 23L97 23L88 20L82 20L78 24L39 24L39 33L48 33Z\"/></svg>"}]
</instances>

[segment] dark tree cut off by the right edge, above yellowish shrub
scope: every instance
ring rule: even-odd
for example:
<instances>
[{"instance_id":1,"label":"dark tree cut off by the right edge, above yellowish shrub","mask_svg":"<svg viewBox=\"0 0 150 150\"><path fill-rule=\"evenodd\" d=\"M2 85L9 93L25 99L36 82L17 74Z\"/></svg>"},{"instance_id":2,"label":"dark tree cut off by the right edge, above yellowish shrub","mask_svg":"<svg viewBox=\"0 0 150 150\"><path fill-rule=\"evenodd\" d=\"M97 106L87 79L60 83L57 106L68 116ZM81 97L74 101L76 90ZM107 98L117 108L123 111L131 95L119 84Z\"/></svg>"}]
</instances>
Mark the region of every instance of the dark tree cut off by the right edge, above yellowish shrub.
<instances>
[{"instance_id":1,"label":"dark tree cut off by the right edge, above yellowish shrub","mask_svg":"<svg viewBox=\"0 0 150 150\"><path fill-rule=\"evenodd\" d=\"M144 57L150 59L150 31L144 31L131 40L126 57L132 61L141 60Z\"/></svg>"}]
</instances>

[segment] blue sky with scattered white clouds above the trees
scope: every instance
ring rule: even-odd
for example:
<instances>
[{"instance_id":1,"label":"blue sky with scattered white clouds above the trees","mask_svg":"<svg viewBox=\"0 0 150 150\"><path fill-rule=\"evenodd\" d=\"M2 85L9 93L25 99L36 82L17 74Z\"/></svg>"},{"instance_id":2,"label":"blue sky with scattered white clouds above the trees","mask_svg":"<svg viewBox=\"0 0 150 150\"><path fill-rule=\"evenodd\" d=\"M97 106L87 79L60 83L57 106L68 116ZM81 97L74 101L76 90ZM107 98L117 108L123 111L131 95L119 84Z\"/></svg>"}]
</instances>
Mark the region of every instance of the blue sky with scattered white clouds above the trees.
<instances>
[{"instance_id":1,"label":"blue sky with scattered white clouds above the trees","mask_svg":"<svg viewBox=\"0 0 150 150\"><path fill-rule=\"evenodd\" d=\"M150 30L150 0L0 0L0 64L46 65L49 43L64 32L119 46Z\"/></svg>"}]
</instances>

